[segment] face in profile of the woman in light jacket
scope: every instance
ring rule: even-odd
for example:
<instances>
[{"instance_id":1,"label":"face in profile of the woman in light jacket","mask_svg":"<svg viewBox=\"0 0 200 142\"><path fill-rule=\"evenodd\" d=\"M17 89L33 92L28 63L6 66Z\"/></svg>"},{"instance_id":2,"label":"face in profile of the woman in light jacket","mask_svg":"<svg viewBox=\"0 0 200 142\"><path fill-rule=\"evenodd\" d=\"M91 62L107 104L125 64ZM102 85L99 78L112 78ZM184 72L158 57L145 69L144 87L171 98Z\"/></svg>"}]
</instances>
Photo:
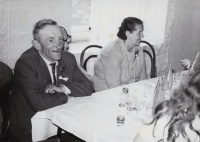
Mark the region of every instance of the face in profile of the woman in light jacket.
<instances>
[{"instance_id":1,"label":"face in profile of the woman in light jacket","mask_svg":"<svg viewBox=\"0 0 200 142\"><path fill-rule=\"evenodd\" d=\"M131 47L138 46L140 44L141 39L143 36L143 25L136 25L135 31L129 32L127 31L126 36L127 40Z\"/></svg>"}]
</instances>

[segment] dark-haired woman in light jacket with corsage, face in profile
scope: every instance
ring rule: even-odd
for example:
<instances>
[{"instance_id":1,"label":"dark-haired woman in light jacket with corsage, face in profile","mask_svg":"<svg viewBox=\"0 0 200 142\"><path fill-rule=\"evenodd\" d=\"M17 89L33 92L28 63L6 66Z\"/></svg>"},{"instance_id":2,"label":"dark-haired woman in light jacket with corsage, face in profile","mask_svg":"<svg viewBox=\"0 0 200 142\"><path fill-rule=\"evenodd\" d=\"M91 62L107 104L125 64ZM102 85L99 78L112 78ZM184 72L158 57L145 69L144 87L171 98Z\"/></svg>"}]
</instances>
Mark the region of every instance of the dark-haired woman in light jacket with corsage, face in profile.
<instances>
[{"instance_id":1,"label":"dark-haired woman in light jacket with corsage, face in profile","mask_svg":"<svg viewBox=\"0 0 200 142\"><path fill-rule=\"evenodd\" d=\"M101 49L94 64L95 91L129 84L146 78L143 49L143 22L125 18L117 34L118 39Z\"/></svg>"}]
</instances>

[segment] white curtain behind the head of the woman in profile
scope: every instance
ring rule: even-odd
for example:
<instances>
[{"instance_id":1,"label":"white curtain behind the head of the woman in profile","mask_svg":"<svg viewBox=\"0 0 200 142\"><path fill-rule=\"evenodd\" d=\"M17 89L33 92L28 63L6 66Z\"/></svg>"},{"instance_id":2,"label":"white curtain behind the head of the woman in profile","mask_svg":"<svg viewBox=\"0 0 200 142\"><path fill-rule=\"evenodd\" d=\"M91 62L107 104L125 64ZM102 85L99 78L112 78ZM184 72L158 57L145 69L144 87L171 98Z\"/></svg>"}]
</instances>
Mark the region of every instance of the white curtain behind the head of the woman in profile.
<instances>
[{"instance_id":1,"label":"white curtain behind the head of the woman in profile","mask_svg":"<svg viewBox=\"0 0 200 142\"><path fill-rule=\"evenodd\" d=\"M144 23L144 40L153 45L164 42L168 0L91 0L90 26L94 38L107 43L117 36L126 17Z\"/></svg>"}]
</instances>

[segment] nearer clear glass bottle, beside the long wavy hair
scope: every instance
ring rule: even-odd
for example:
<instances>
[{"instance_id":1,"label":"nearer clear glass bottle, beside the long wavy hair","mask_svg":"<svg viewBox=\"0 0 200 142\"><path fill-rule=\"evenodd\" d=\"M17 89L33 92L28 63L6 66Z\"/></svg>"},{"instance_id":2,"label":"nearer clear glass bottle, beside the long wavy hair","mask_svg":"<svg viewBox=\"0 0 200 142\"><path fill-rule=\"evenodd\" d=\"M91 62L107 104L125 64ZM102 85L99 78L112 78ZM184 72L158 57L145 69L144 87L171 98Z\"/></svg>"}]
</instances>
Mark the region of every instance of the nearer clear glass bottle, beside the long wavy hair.
<instances>
[{"instance_id":1,"label":"nearer clear glass bottle, beside the long wavy hair","mask_svg":"<svg viewBox=\"0 0 200 142\"><path fill-rule=\"evenodd\" d=\"M156 106L165 101L165 94L164 94L164 80L162 77L158 80L158 86L155 90L154 101L153 101L153 112L155 111Z\"/></svg>"}]
</instances>

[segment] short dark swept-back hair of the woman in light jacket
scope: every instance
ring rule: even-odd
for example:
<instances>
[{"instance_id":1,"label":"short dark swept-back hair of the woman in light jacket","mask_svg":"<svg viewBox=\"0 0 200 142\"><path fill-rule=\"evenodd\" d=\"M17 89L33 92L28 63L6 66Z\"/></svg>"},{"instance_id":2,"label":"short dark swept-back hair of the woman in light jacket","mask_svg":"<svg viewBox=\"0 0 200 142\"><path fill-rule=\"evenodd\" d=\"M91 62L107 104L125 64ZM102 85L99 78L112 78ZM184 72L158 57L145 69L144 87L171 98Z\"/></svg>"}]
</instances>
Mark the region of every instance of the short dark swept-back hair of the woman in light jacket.
<instances>
[{"instance_id":1,"label":"short dark swept-back hair of the woman in light jacket","mask_svg":"<svg viewBox=\"0 0 200 142\"><path fill-rule=\"evenodd\" d=\"M119 32L117 36L123 40L126 40L126 31L133 32L135 31L136 25L143 25L143 22L135 17L127 17L123 20L121 27L119 27Z\"/></svg>"}]
</instances>

